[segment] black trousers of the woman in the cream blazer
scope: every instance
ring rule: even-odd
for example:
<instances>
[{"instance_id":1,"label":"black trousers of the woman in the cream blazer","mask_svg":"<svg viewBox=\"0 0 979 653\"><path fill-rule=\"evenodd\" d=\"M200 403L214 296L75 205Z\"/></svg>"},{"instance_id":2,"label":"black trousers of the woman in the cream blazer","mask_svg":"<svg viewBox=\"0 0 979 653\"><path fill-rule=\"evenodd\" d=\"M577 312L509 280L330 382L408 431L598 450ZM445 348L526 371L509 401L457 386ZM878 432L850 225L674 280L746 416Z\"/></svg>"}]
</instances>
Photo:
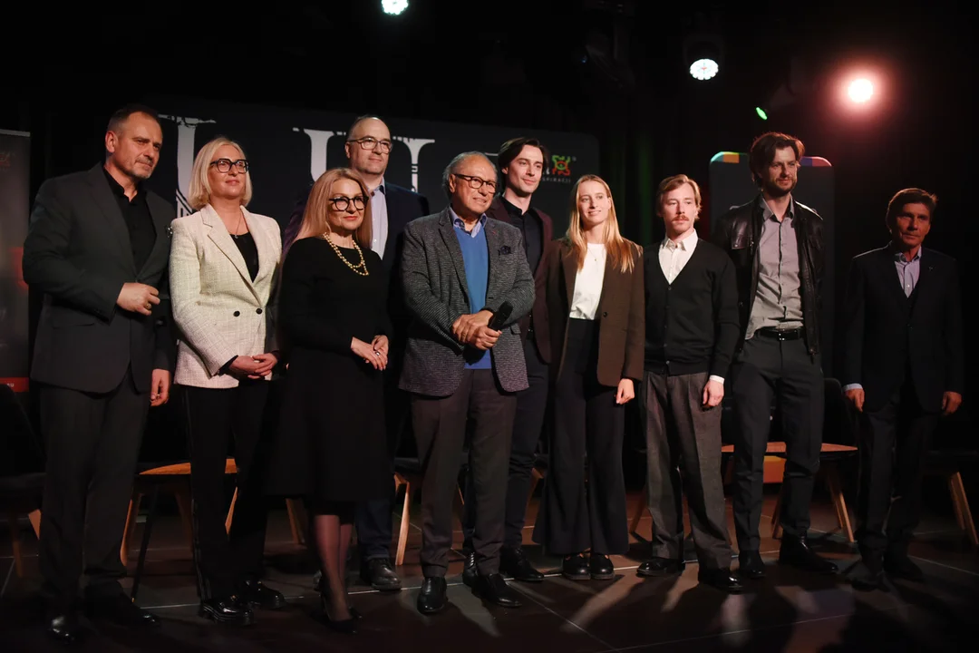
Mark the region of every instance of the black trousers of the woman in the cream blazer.
<instances>
[{"instance_id":1,"label":"black trousers of the woman in the cream blazer","mask_svg":"<svg viewBox=\"0 0 979 653\"><path fill-rule=\"evenodd\" d=\"M268 441L262 413L268 390L268 381L250 380L237 388L176 388L191 452L194 566L202 600L230 596L243 581L261 576L268 515L263 488ZM232 438L238 498L228 533L224 465Z\"/></svg>"}]
</instances>

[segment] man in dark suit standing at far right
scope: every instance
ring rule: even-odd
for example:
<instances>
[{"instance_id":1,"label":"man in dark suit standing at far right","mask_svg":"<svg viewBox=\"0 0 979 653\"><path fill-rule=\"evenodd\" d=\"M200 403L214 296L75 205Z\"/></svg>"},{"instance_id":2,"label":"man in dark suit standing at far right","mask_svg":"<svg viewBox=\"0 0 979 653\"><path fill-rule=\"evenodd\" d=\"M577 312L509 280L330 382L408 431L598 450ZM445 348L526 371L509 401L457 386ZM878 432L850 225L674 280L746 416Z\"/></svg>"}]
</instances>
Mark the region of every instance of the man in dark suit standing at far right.
<instances>
[{"instance_id":1,"label":"man in dark suit standing at far right","mask_svg":"<svg viewBox=\"0 0 979 653\"><path fill-rule=\"evenodd\" d=\"M852 582L862 589L880 586L885 571L922 580L908 557L921 461L939 416L962 401L958 267L955 258L921 246L937 203L919 188L899 191L887 207L891 243L855 257L847 281L843 390L862 427L862 564Z\"/></svg>"}]
</instances>

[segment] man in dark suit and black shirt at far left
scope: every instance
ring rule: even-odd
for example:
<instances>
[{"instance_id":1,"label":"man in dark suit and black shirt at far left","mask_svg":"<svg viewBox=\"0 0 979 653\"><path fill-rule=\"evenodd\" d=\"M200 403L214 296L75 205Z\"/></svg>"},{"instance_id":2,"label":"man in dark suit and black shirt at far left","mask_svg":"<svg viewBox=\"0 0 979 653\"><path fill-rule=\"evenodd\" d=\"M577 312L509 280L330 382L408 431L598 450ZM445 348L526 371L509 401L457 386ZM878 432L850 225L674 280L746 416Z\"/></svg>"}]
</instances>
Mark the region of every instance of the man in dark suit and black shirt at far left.
<instances>
[{"instance_id":1,"label":"man in dark suit and black shirt at far left","mask_svg":"<svg viewBox=\"0 0 979 653\"><path fill-rule=\"evenodd\" d=\"M156 114L121 109L105 143L104 164L41 185L23 245L23 277L44 294L30 373L47 457L38 564L62 640L78 634L82 559L91 616L158 624L122 592L119 548L147 410L169 397L174 215L143 183L163 145Z\"/></svg>"}]
</instances>

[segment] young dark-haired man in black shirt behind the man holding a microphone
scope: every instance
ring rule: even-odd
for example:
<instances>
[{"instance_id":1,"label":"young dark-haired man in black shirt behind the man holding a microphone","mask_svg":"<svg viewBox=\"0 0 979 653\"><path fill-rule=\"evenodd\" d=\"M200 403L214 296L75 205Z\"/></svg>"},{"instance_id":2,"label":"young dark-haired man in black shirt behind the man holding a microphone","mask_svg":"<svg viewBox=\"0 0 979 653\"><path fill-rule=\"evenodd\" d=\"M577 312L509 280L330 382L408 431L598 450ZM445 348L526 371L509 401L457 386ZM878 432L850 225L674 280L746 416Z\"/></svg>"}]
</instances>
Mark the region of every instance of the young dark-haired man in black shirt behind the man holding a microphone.
<instances>
[{"instance_id":1,"label":"young dark-haired man in black shirt behind the man holding a microphone","mask_svg":"<svg viewBox=\"0 0 979 653\"><path fill-rule=\"evenodd\" d=\"M544 252L547 251L547 243L554 238L554 223L547 213L531 206L546 161L547 149L536 138L512 138L503 143L496 156L496 169L503 192L493 198L487 210L487 217L520 229L524 252L534 273L534 308L520 320L530 385L527 390L517 393L517 416L513 422L506 489L506 522L499 560L503 574L512 576L516 581L530 583L539 583L544 579L524 552L523 541L527 495L531 490L537 441L540 440L547 408L548 376L544 357L550 350L550 333L547 328L547 304L544 302L544 281L547 276ZM466 541L463 548L466 563L462 580L471 585L476 580L476 554L472 548L476 497L472 491L472 476L467 477L466 483L465 521Z\"/></svg>"}]
</instances>

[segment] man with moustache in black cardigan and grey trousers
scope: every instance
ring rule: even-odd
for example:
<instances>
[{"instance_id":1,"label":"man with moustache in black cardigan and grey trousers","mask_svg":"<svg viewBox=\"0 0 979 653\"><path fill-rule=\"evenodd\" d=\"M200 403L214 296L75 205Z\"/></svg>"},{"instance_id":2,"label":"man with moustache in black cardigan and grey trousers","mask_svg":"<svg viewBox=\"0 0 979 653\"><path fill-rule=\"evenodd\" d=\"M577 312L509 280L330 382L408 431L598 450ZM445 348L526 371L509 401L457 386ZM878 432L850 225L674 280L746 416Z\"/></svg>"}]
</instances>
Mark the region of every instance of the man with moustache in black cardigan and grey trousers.
<instances>
[{"instance_id":1,"label":"man with moustache in black cardigan and grey trousers","mask_svg":"<svg viewBox=\"0 0 979 653\"><path fill-rule=\"evenodd\" d=\"M652 557L637 573L669 576L683 570L682 474L700 581L738 592L741 583L730 572L721 480L724 376L739 333L734 265L721 248L697 238L697 182L685 174L664 179L656 205L667 237L647 247L643 257L646 362L641 403L653 542Z\"/></svg>"}]
</instances>

